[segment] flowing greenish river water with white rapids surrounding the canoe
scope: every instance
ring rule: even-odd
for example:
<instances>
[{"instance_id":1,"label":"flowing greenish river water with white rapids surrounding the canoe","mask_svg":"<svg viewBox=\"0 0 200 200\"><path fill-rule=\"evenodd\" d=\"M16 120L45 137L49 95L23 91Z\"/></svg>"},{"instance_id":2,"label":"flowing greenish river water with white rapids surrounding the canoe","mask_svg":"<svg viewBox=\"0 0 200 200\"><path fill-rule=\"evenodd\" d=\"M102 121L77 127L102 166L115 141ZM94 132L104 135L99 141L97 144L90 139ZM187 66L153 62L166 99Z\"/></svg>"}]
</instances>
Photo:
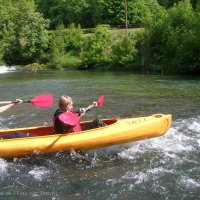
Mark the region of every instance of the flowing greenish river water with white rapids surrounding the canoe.
<instances>
[{"instance_id":1,"label":"flowing greenish river water with white rapids surrounding the canoe","mask_svg":"<svg viewBox=\"0 0 200 200\"><path fill-rule=\"evenodd\" d=\"M0 74L0 101L52 93L51 108L22 104L0 116L0 127L51 124L60 95L88 106L85 119L171 113L166 135L97 149L0 158L0 199L157 200L200 199L200 79L111 72Z\"/></svg>"}]
</instances>

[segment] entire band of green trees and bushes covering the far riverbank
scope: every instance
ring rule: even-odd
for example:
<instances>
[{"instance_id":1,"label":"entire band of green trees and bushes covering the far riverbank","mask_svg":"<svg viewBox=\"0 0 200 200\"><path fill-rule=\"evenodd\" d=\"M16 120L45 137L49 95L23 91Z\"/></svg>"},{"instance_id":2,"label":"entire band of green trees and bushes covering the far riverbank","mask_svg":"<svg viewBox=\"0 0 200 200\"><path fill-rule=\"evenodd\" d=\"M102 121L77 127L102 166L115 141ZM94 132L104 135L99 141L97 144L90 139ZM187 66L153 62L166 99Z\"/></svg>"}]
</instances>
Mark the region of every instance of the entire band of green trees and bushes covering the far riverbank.
<instances>
[{"instance_id":1,"label":"entire band of green trees and bushes covering the far riverbank","mask_svg":"<svg viewBox=\"0 0 200 200\"><path fill-rule=\"evenodd\" d=\"M0 0L0 63L200 72L199 0L127 3L128 38L124 0Z\"/></svg>"}]
</instances>

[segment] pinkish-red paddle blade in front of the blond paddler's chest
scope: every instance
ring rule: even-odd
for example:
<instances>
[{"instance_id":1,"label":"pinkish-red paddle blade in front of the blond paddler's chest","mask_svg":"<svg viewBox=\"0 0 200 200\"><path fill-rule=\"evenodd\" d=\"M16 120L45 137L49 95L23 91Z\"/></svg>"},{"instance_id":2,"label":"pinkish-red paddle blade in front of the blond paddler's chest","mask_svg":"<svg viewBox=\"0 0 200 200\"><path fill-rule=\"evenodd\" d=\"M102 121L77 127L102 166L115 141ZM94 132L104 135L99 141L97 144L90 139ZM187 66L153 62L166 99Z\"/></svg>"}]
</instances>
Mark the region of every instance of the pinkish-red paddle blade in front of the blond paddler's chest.
<instances>
[{"instance_id":1,"label":"pinkish-red paddle blade in front of the blond paddler's chest","mask_svg":"<svg viewBox=\"0 0 200 200\"><path fill-rule=\"evenodd\" d=\"M65 112L61 114L58 118L64 124L70 126L75 126L76 124L78 124L80 120L77 113L70 113L70 112Z\"/></svg>"}]
</instances>

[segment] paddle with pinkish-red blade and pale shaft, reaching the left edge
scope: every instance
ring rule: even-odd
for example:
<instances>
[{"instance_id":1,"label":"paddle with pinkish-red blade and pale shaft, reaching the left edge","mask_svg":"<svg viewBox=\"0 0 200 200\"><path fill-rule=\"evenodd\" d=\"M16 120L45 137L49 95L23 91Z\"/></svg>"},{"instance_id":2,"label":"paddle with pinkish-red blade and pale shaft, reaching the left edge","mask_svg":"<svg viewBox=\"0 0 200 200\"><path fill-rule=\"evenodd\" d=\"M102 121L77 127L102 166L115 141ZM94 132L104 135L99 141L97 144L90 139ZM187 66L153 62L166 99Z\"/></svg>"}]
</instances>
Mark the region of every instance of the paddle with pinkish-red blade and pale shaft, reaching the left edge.
<instances>
[{"instance_id":1,"label":"paddle with pinkish-red blade and pale shaft, reaching the left edge","mask_svg":"<svg viewBox=\"0 0 200 200\"><path fill-rule=\"evenodd\" d=\"M0 104L17 103L18 101L1 101ZM53 105L53 96L51 94L38 95L31 100L23 101L23 103L31 103L37 107L51 107Z\"/></svg>"}]
</instances>

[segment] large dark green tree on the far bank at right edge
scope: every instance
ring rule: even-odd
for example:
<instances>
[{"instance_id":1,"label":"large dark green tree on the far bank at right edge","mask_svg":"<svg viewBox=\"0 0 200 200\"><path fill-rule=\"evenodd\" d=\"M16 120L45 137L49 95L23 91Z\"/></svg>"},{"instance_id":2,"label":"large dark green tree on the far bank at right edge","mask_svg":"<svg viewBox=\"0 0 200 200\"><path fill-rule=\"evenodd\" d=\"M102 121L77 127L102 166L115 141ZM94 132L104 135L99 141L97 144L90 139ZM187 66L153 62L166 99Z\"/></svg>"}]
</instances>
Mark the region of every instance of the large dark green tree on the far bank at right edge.
<instances>
[{"instance_id":1,"label":"large dark green tree on the far bank at right edge","mask_svg":"<svg viewBox=\"0 0 200 200\"><path fill-rule=\"evenodd\" d=\"M189 0L168 9L146 26L143 49L149 49L149 66L163 72L199 72L199 34L199 15Z\"/></svg>"}]
</instances>

